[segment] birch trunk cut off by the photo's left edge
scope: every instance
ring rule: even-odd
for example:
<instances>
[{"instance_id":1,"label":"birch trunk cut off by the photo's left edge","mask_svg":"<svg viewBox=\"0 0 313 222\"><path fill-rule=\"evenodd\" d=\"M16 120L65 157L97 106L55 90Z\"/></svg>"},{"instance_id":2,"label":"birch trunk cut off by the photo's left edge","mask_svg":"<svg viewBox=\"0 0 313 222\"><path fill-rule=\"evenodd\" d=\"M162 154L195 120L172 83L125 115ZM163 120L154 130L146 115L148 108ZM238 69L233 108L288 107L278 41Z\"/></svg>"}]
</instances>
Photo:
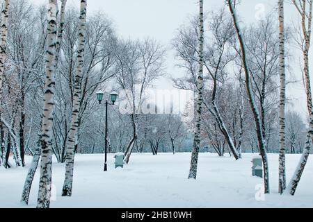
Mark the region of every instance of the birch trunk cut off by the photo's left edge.
<instances>
[{"instance_id":1,"label":"birch trunk cut off by the photo's left edge","mask_svg":"<svg viewBox=\"0 0 313 222\"><path fill-rule=\"evenodd\" d=\"M4 63L6 62L6 39L8 35L8 11L10 6L10 0L4 1L3 10L1 12L1 36L0 36L0 105L2 100L2 83Z\"/></svg>"}]
</instances>

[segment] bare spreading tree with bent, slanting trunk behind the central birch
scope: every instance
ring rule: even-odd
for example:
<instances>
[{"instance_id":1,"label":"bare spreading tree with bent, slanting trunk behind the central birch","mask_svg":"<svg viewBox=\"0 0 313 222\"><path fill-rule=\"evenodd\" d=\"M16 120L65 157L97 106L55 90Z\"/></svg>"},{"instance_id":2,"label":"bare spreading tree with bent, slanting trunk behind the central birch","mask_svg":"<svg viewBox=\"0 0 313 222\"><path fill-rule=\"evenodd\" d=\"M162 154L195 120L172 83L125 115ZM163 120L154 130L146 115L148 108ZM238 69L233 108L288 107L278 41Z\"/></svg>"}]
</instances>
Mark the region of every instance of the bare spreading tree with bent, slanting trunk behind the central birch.
<instances>
[{"instance_id":1,"label":"bare spreading tree with bent, slanting trunk behind the central birch","mask_svg":"<svg viewBox=\"0 0 313 222\"><path fill-rule=\"evenodd\" d=\"M227 145L234 158L239 158L239 153L236 151L234 139L232 139L230 128L227 128L223 112L220 110L220 105L223 103L218 99L220 94L223 94L223 86L226 84L228 77L228 65L233 62L236 57L235 53L230 49L229 42L234 37L234 27L232 25L231 17L225 14L225 8L218 10L218 12L210 12L209 17L209 33L207 44L204 48L204 85L209 85L204 89L203 104L204 110L202 112L209 112L210 116L205 118L212 118L216 121L218 130L223 134ZM195 21L196 20L196 21ZM177 58L182 60L179 67L188 71L187 76L183 78L173 79L175 87L179 89L189 89L197 92L197 64L199 55L198 51L198 17L191 20L191 26L182 26L179 28L179 33L173 41L175 51L177 51ZM211 37L210 37L211 36ZM222 101L223 99L223 101ZM204 116L202 115L202 119Z\"/></svg>"}]
</instances>

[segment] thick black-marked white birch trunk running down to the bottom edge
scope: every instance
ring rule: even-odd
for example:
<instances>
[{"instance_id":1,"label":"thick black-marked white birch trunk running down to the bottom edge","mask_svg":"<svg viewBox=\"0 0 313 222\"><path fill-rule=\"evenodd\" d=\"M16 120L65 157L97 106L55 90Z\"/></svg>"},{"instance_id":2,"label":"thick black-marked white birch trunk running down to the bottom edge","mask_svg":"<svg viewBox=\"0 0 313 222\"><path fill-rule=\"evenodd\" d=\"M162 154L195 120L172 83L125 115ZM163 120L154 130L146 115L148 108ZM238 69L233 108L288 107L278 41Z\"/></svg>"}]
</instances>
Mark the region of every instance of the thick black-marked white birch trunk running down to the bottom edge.
<instances>
[{"instance_id":1,"label":"thick black-marked white birch trunk running down to the bottom edge","mask_svg":"<svg viewBox=\"0 0 313 222\"><path fill-rule=\"evenodd\" d=\"M46 51L46 79L44 87L44 105L42 112L42 128L40 133L41 161L38 191L38 208L49 208L51 197L52 173L52 135L54 110L54 82L55 54L56 54L56 0L49 0L47 51Z\"/></svg>"}]
</instances>

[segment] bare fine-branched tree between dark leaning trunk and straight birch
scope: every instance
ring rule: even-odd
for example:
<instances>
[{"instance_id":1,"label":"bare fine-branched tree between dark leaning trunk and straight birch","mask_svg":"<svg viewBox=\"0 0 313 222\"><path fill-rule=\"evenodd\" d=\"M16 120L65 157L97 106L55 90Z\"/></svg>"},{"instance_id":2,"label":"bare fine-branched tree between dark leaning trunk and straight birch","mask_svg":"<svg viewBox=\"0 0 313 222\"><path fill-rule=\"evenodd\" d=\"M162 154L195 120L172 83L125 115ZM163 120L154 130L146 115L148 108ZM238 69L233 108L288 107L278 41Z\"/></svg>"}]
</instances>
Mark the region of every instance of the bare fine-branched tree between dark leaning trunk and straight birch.
<instances>
[{"instance_id":1,"label":"bare fine-branched tree between dark leaning trunk and straight birch","mask_svg":"<svg viewBox=\"0 0 313 222\"><path fill-rule=\"evenodd\" d=\"M252 91L259 109L262 135L268 150L273 137L273 123L276 123L273 108L279 105L277 94L279 85L279 40L278 28L270 13L257 24L253 24L245 33L246 52L251 73ZM237 51L240 51L237 49ZM241 62L239 64L241 66Z\"/></svg>"}]
</instances>

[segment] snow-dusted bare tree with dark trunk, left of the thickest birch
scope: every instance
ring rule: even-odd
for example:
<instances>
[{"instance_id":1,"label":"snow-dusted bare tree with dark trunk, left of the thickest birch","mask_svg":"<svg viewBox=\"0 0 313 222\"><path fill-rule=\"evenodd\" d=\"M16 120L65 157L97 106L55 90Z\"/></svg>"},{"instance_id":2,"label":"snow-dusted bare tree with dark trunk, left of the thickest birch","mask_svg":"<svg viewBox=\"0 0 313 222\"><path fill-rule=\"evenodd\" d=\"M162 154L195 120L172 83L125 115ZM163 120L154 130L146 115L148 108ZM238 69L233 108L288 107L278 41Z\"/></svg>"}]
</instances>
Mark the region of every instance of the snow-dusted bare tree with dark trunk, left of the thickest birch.
<instances>
[{"instance_id":1,"label":"snow-dusted bare tree with dark trunk, left of the thickest birch","mask_svg":"<svg viewBox=\"0 0 313 222\"><path fill-rule=\"evenodd\" d=\"M17 110L17 139L19 139L19 153L22 166L25 167L24 155L26 152L26 128L28 97L32 89L38 89L40 84L36 81L37 74L44 66L42 55L45 53L46 31L41 33L42 24L45 26L42 8L35 10L28 1L12 1L10 4L10 33L8 34L8 61L10 69L8 74L14 78L17 88L16 101L13 110ZM10 71L12 70L12 71ZM41 75L40 75L41 76ZM37 139L35 139L37 140Z\"/></svg>"}]
</instances>

